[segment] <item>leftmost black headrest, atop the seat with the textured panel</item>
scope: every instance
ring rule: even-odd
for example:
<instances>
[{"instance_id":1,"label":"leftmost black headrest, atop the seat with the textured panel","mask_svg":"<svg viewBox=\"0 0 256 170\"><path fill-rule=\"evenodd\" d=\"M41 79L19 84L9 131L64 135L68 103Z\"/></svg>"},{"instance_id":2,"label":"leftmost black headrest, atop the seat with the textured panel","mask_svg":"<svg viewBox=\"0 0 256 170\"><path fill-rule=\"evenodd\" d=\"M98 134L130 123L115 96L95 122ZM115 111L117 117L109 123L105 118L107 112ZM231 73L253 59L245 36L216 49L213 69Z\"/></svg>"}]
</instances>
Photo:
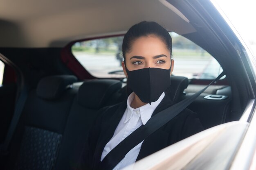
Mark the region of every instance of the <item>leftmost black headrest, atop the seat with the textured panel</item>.
<instances>
[{"instance_id":1,"label":"leftmost black headrest, atop the seat with the textured panel","mask_svg":"<svg viewBox=\"0 0 256 170\"><path fill-rule=\"evenodd\" d=\"M36 88L36 94L43 99L58 98L65 89L77 81L76 76L72 75L54 75L42 78Z\"/></svg>"}]
</instances>

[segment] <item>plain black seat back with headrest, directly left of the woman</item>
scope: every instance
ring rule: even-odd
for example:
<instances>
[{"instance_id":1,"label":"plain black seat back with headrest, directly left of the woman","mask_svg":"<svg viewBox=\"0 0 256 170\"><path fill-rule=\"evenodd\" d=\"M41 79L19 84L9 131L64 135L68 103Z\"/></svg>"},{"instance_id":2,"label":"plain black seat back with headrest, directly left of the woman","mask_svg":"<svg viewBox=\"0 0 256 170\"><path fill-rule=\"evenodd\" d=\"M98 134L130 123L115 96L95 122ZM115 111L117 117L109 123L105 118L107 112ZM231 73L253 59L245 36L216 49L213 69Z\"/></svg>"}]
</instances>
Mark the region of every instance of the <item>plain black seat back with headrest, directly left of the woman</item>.
<instances>
[{"instance_id":1,"label":"plain black seat back with headrest, directly left of the woman","mask_svg":"<svg viewBox=\"0 0 256 170\"><path fill-rule=\"evenodd\" d=\"M90 126L101 113L100 108L120 89L121 81L110 79L85 81L79 87L63 134L63 143L55 167L57 170L75 168Z\"/></svg>"}]
</instances>

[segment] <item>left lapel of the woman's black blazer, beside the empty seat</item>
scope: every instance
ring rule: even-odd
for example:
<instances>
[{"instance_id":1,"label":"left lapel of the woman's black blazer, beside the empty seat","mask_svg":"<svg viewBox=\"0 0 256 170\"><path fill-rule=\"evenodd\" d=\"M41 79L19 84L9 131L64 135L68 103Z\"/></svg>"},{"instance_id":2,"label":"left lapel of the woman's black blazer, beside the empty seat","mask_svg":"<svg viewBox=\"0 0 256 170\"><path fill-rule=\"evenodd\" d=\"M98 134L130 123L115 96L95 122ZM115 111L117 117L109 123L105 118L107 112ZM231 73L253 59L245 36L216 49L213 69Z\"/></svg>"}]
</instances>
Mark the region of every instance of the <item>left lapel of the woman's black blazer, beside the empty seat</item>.
<instances>
[{"instance_id":1,"label":"left lapel of the woman's black blazer, beside the empty seat","mask_svg":"<svg viewBox=\"0 0 256 170\"><path fill-rule=\"evenodd\" d=\"M97 169L96 166L99 165L103 149L113 137L115 129L117 128L117 125L119 124L126 107L127 103L125 101L120 104L114 114L106 113L112 116L110 118L110 121L107 121L108 124L103 123L103 125L101 126L101 134L99 135L99 140L94 153L94 169Z\"/></svg>"}]
</instances>

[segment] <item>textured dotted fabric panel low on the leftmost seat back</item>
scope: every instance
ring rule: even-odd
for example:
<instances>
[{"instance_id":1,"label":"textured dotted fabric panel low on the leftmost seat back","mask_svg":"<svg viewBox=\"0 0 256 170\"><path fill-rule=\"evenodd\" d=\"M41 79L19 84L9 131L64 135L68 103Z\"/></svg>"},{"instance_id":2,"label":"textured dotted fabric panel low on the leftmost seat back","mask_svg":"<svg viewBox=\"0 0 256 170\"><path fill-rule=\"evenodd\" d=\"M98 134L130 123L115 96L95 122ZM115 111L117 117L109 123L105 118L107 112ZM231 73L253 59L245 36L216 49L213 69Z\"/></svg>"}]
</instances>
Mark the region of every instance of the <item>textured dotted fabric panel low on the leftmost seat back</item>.
<instances>
[{"instance_id":1,"label":"textured dotted fabric panel low on the leftmost seat back","mask_svg":"<svg viewBox=\"0 0 256 170\"><path fill-rule=\"evenodd\" d=\"M25 127L16 170L52 170L57 156L61 134Z\"/></svg>"}]
</instances>

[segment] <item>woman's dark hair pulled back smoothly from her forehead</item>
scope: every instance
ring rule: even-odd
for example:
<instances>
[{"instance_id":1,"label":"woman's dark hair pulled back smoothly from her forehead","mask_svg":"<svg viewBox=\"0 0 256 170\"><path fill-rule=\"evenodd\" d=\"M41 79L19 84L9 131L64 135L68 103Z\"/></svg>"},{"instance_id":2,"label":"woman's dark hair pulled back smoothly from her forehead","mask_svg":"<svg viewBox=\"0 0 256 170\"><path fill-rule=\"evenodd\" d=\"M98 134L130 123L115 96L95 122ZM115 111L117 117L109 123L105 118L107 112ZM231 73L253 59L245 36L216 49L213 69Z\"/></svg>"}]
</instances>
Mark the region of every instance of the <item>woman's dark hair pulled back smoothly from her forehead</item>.
<instances>
[{"instance_id":1,"label":"woman's dark hair pulled back smoothly from her forehead","mask_svg":"<svg viewBox=\"0 0 256 170\"><path fill-rule=\"evenodd\" d=\"M132 42L139 37L148 36L151 34L156 35L157 37L162 39L162 41L164 41L164 44L166 44L167 49L170 50L170 53L172 55L172 39L168 31L162 26L160 26L159 24L157 24L156 22L143 21L132 26L124 35L123 45L122 45L124 61L125 61L125 54L126 52L130 51Z\"/></svg>"}]
</instances>

